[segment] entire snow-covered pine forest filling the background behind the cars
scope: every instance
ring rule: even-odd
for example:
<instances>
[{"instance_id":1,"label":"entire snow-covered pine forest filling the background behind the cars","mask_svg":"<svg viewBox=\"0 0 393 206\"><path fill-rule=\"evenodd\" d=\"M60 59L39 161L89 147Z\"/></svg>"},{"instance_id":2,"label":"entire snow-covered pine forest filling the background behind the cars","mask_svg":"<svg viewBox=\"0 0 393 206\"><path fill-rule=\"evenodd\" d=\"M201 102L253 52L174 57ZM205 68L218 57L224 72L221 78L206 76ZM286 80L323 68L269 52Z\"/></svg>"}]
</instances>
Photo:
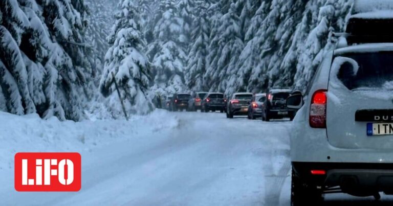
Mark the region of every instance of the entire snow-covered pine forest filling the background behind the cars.
<instances>
[{"instance_id":1,"label":"entire snow-covered pine forest filling the background behind the cars","mask_svg":"<svg viewBox=\"0 0 393 206\"><path fill-rule=\"evenodd\" d=\"M0 110L79 121L93 106L118 118L112 72L129 115L179 91L304 90L352 4L4 0Z\"/></svg>"}]
</instances>

